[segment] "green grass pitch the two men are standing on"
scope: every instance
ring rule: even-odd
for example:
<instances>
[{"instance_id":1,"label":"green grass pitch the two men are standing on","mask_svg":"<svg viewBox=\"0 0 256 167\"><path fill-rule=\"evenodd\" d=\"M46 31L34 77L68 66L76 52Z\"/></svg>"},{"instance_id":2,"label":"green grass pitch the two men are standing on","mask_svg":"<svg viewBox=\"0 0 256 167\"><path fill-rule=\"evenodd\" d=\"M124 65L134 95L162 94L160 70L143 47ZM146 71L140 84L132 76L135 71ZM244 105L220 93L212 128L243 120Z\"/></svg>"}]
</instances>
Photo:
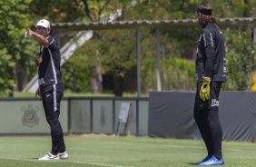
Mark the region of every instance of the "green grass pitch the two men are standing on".
<instances>
[{"instance_id":1,"label":"green grass pitch the two men are standing on","mask_svg":"<svg viewBox=\"0 0 256 167\"><path fill-rule=\"evenodd\" d=\"M0 137L0 166L19 167L182 167L193 166L206 155L200 140L101 135L64 136L69 158L38 161L50 151L50 136ZM252 167L256 145L251 142L222 142L223 166Z\"/></svg>"}]
</instances>

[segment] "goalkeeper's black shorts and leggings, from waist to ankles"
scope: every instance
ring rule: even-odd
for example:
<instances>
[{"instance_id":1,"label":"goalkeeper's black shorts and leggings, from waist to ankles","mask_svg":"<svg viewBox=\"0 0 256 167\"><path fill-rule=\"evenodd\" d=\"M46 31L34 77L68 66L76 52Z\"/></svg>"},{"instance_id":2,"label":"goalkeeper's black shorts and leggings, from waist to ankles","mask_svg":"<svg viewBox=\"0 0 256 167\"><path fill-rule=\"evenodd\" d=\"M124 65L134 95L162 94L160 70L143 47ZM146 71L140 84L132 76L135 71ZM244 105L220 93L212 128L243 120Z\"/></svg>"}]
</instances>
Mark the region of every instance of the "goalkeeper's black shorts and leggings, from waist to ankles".
<instances>
[{"instance_id":1,"label":"goalkeeper's black shorts and leggings, from waist to ankles","mask_svg":"<svg viewBox=\"0 0 256 167\"><path fill-rule=\"evenodd\" d=\"M200 97L202 83L198 83L194 103L194 120L206 145L208 156L222 158L222 125L219 119L219 94L222 83L211 83L210 99L203 102Z\"/></svg>"}]
</instances>

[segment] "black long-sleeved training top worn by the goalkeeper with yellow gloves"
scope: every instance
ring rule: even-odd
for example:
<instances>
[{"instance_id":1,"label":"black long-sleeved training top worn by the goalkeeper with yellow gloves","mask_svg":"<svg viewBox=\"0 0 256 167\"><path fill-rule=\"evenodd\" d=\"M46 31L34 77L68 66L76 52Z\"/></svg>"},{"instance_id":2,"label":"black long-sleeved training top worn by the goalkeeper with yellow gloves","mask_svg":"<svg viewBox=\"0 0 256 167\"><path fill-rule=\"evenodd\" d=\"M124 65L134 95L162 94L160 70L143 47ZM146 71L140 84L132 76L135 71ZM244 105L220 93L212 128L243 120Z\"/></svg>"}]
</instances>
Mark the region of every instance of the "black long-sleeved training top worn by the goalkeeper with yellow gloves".
<instances>
[{"instance_id":1,"label":"black long-sleeved training top worn by the goalkeeper with yellow gloves","mask_svg":"<svg viewBox=\"0 0 256 167\"><path fill-rule=\"evenodd\" d=\"M222 31L214 23L202 26L196 54L196 77L211 77L212 81L227 82L225 46Z\"/></svg>"}]
</instances>

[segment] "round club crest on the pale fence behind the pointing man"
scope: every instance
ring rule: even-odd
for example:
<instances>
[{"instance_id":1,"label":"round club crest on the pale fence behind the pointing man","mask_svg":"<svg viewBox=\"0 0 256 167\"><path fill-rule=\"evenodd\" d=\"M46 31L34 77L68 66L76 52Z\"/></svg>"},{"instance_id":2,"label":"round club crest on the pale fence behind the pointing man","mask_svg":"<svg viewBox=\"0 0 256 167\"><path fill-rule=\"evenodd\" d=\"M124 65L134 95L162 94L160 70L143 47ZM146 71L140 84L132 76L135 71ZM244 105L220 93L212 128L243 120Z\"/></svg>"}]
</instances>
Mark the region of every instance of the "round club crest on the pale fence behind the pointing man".
<instances>
[{"instance_id":1,"label":"round club crest on the pale fence behind the pointing man","mask_svg":"<svg viewBox=\"0 0 256 167\"><path fill-rule=\"evenodd\" d=\"M38 125L39 118L36 114L38 110L38 107L33 108L31 104L29 104L27 108L22 107L22 111L24 112L24 115L22 117L23 125L28 126L30 128L32 128L34 125Z\"/></svg>"}]
</instances>

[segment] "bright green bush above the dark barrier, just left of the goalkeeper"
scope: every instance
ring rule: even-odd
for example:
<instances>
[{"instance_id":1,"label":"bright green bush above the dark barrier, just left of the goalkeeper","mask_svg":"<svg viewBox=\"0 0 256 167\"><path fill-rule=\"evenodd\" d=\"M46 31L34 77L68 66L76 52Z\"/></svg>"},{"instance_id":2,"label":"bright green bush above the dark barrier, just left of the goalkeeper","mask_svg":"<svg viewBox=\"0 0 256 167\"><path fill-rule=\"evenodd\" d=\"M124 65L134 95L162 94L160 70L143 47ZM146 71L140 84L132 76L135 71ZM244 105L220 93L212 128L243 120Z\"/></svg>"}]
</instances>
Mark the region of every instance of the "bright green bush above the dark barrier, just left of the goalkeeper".
<instances>
[{"instance_id":1,"label":"bright green bush above the dark barrier, just left of the goalkeeper","mask_svg":"<svg viewBox=\"0 0 256 167\"><path fill-rule=\"evenodd\" d=\"M194 62L182 58L165 58L161 62L162 90L195 90L196 77ZM143 91L156 88L156 64L148 63L143 70Z\"/></svg>"}]
</instances>

